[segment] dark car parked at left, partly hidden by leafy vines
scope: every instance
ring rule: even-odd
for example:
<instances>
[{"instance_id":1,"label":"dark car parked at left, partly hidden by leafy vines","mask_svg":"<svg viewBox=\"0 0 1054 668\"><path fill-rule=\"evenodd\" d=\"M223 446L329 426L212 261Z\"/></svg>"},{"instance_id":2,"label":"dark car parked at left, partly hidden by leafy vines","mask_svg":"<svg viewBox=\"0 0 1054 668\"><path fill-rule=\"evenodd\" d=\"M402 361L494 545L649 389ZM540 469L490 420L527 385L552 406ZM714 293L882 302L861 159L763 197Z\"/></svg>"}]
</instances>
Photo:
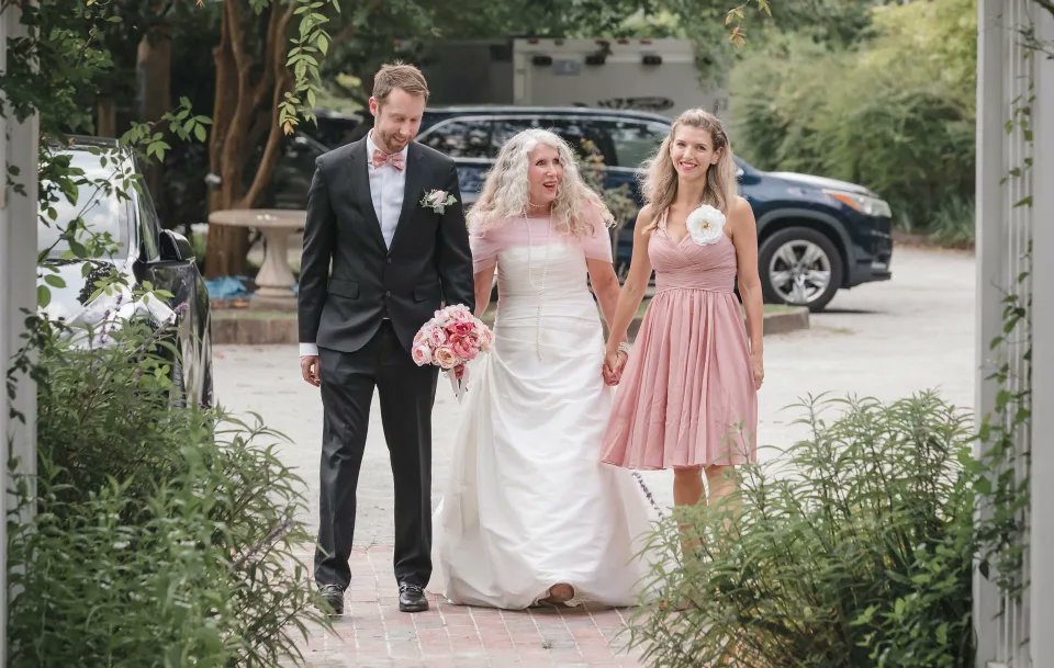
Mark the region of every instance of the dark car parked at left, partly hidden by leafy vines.
<instances>
[{"instance_id":1,"label":"dark car parked at left, partly hidden by leafy vines","mask_svg":"<svg viewBox=\"0 0 1054 668\"><path fill-rule=\"evenodd\" d=\"M209 293L205 291L193 250L187 239L161 225L154 208L149 191L120 184L119 174L137 170L133 156L117 150L116 141L94 137L76 137L60 149L70 157L70 166L80 168L85 178L100 179L117 184L117 189L100 188L96 183L79 186L76 204L63 199L54 206L58 217L53 226L41 225L37 230L37 247L47 250L44 262L57 271L65 287L49 287L51 302L42 310L52 319L63 319L70 325L97 326L114 314L128 317L145 317L154 327L172 322L173 343L180 359L173 360L172 382L175 400L212 403L212 343L209 335L211 315ZM106 163L102 165L101 154ZM130 286L149 282L157 290L173 296L164 303L149 299L146 304L133 304L127 291L115 294L96 292L98 278L83 276L83 262L69 259L68 245L59 239L59 233L69 222L80 215L86 227L93 233L109 233L114 250L106 258L114 271L126 276ZM110 267L105 268L110 271Z\"/></svg>"}]
</instances>

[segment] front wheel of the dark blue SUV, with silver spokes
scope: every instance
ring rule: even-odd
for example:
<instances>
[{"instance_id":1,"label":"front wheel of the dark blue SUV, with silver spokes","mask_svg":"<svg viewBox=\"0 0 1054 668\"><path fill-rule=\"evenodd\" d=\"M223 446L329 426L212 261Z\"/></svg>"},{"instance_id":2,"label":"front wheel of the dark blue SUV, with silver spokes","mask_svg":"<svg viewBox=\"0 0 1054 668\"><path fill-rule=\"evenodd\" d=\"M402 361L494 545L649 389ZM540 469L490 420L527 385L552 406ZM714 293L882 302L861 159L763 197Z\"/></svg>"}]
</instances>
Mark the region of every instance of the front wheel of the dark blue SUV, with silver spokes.
<instances>
[{"instance_id":1,"label":"front wheel of the dark blue SUV, with silver spokes","mask_svg":"<svg viewBox=\"0 0 1054 668\"><path fill-rule=\"evenodd\" d=\"M781 229L764 240L758 258L765 302L823 310L842 285L842 258L823 234Z\"/></svg>"}]
</instances>

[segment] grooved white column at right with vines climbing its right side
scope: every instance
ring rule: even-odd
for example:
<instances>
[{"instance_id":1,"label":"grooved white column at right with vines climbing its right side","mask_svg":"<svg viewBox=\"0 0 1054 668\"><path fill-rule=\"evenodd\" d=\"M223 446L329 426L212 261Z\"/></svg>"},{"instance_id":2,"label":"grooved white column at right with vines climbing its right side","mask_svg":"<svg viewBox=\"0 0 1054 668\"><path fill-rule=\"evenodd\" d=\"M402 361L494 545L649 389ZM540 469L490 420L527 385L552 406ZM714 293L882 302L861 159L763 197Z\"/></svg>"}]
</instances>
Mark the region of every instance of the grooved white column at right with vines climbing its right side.
<instances>
[{"instance_id":1,"label":"grooved white column at right with vines climbing its right side","mask_svg":"<svg viewBox=\"0 0 1054 668\"><path fill-rule=\"evenodd\" d=\"M986 380L1007 362L1010 367L1008 389L1027 389L1023 354L1030 344L1027 332L1019 327L1007 337L1007 343L997 353L988 350L989 342L1002 333L1003 297L1016 293L1022 299L1031 294L1033 285L1044 285L1035 270L1052 258L1035 248L1034 269L1023 284L1018 275L1028 269L1025 261L1033 230L1047 223L1039 207L1014 206L1024 196L1035 197L1044 181L1034 169L1021 178L1002 182L1014 168L1023 168L1025 160L1040 155L1040 146L1030 146L1020 129L1008 134L1005 124L1014 118L1013 110L1023 106L1032 93L1030 81L1035 79L1038 58L1025 57L1027 48L1020 30L1038 18L1040 8L1033 0L980 0L978 2L977 53L977 417L988 416L995 407L996 384ZM1040 122L1038 110L1030 114L1033 127ZM1036 133L1036 140L1049 141ZM1047 147L1046 150L1050 150ZM1049 216L1050 212L1045 212ZM1038 223L1034 225L1033 223ZM1034 313L1033 313L1034 316ZM1040 340L1032 337L1032 343ZM1033 372L1034 380L1041 370ZM1036 432L1040 433L1040 432ZM1019 429L1014 443L1019 453L1040 448L1042 441L1032 441L1032 432ZM1025 457L1018 456L1013 474L1021 480L1027 474ZM1042 480L1042 478L1035 478ZM1028 513L1025 513L1028 516ZM1025 518L1028 519L1028 517ZM1039 518L1043 521L1043 518ZM1034 561L1027 551L1022 573L1010 574L1028 581ZM1031 664L1029 642L1031 633L1033 590L1025 591L1020 601L1001 596L1000 591L982 578L974 580L974 623L977 631L977 666L980 668L1028 668ZM1045 664L1036 664L1045 665Z\"/></svg>"}]
</instances>

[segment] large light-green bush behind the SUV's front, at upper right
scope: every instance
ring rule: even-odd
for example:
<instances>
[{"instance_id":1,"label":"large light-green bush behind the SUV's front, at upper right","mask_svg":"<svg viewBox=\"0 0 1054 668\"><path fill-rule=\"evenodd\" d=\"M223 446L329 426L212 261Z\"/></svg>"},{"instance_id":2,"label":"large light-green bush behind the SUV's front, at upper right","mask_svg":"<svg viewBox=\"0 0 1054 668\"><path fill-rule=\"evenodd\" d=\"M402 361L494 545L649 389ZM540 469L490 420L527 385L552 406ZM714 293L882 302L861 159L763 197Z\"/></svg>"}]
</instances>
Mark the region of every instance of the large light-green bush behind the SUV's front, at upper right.
<instances>
[{"instance_id":1,"label":"large light-green bush behind the SUV's front, at upper right","mask_svg":"<svg viewBox=\"0 0 1054 668\"><path fill-rule=\"evenodd\" d=\"M949 233L938 215L973 200L975 2L878 7L870 18L871 36L852 48L789 34L737 65L737 150L762 169L863 183L902 227L961 238L967 229Z\"/></svg>"}]
</instances>

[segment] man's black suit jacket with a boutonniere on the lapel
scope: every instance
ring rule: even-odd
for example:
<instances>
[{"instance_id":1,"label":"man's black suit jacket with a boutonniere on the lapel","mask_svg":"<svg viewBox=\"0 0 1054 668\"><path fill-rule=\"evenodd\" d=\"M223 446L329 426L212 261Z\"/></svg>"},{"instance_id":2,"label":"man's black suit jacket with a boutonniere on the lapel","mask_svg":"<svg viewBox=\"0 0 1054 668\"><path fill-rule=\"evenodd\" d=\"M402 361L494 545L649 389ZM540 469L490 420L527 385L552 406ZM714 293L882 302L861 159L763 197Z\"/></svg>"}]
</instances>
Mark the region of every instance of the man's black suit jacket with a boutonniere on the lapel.
<instances>
[{"instance_id":1,"label":"man's black suit jacket with a boutonniere on the lapel","mask_svg":"<svg viewBox=\"0 0 1054 668\"><path fill-rule=\"evenodd\" d=\"M365 137L315 161L301 261L300 340L355 352L388 317L410 351L414 335L444 303L474 308L458 172L447 156L410 144L403 208L389 249L367 169ZM430 190L445 190L457 202L437 214L421 206Z\"/></svg>"}]
</instances>

